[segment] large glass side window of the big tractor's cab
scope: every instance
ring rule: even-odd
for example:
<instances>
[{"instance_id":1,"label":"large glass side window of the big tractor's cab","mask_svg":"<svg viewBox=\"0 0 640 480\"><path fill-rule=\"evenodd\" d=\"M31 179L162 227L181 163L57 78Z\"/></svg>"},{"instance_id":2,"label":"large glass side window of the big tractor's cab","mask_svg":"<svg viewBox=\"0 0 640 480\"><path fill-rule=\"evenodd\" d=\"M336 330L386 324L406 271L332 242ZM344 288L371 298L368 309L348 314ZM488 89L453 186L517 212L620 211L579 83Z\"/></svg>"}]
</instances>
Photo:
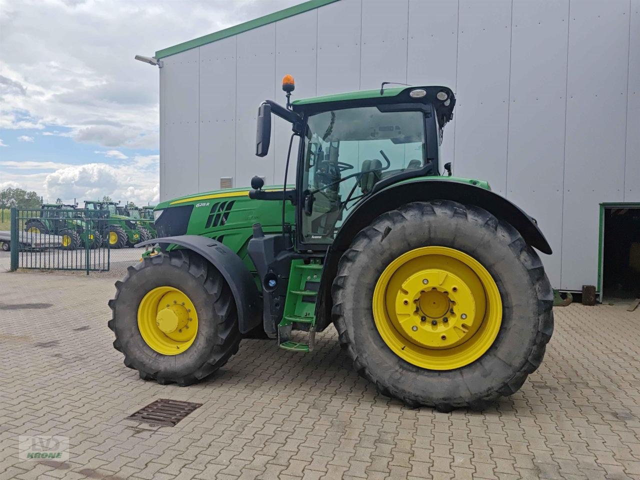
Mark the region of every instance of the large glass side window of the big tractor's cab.
<instances>
[{"instance_id":1,"label":"large glass side window of the big tractor's cab","mask_svg":"<svg viewBox=\"0 0 640 480\"><path fill-rule=\"evenodd\" d=\"M376 107L311 115L303 150L303 241L329 243L350 207L381 179L425 166L420 111Z\"/></svg>"}]
</instances>

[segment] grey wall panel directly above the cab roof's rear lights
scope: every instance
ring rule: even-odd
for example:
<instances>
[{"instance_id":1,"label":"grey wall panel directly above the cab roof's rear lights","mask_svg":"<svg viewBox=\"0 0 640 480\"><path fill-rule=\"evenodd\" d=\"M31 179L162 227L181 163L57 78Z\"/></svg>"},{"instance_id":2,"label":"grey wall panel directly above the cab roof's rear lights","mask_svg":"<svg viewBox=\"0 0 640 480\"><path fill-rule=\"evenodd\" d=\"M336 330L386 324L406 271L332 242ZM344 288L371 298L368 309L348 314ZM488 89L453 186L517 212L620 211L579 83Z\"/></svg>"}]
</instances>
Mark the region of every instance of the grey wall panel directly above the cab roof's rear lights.
<instances>
[{"instance_id":1,"label":"grey wall panel directly above the cab roof's rear lights","mask_svg":"<svg viewBox=\"0 0 640 480\"><path fill-rule=\"evenodd\" d=\"M425 28L428 25L429 28ZM456 92L458 2L410 0L407 79L412 85L444 85ZM454 120L447 124L440 163L453 163ZM443 170L442 167L440 170Z\"/></svg>"}]
</instances>

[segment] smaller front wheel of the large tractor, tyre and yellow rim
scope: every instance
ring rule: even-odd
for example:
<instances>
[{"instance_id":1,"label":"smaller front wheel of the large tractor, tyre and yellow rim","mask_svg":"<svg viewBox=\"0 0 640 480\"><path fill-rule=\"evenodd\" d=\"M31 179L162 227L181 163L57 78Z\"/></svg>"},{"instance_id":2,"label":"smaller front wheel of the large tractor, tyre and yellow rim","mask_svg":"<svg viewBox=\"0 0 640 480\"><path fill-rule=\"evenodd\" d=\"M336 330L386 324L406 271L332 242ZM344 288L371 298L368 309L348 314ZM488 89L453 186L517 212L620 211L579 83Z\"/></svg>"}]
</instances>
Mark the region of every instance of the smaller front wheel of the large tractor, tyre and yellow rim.
<instances>
[{"instance_id":1,"label":"smaller front wheel of the large tractor, tyre and yellow rim","mask_svg":"<svg viewBox=\"0 0 640 480\"><path fill-rule=\"evenodd\" d=\"M165 302L166 308L161 308ZM220 369L238 351L236 303L227 282L209 262L187 250L159 253L130 266L124 280L116 282L109 307L113 316L108 325L116 337L113 347L124 353L124 364L143 380L191 385ZM191 307L188 314L182 312L187 307ZM186 323L192 330L195 323L195 332L185 342L169 335L185 335L188 326L177 330L173 324L173 330L161 330L163 315L172 308L177 316L182 312L195 320Z\"/></svg>"}]
</instances>

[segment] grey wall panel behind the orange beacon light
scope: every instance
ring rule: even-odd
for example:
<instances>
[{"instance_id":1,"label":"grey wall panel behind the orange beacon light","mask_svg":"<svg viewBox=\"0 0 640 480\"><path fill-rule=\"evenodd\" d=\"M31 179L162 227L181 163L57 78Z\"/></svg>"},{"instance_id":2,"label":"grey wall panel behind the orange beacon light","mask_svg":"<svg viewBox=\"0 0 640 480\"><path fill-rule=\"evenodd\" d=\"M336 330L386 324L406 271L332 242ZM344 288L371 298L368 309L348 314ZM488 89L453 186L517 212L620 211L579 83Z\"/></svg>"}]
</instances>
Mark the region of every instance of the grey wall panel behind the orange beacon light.
<instances>
[{"instance_id":1,"label":"grey wall panel behind the orange beacon light","mask_svg":"<svg viewBox=\"0 0 640 480\"><path fill-rule=\"evenodd\" d=\"M310 10L276 23L276 73L273 99L281 105L286 101L285 92L282 91L282 77L285 74L291 74L296 81L296 90L291 95L292 100L316 96L317 14L317 10ZM274 124L273 183L281 184L284 182L291 124L282 118L275 118ZM300 137L294 138L291 147L287 183L295 183L299 141Z\"/></svg>"}]
</instances>

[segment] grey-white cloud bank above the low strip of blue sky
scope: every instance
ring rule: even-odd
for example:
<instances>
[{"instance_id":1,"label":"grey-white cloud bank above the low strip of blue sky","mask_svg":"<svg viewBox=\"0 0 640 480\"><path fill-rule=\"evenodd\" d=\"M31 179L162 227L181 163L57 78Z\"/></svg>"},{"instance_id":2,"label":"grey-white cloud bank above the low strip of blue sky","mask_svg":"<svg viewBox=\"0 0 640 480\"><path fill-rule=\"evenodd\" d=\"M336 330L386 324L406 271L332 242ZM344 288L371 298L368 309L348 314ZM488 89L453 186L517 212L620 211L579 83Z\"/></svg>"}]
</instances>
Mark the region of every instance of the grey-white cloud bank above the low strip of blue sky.
<instances>
[{"instance_id":1,"label":"grey-white cloud bank above the low strip of blue sky","mask_svg":"<svg viewBox=\"0 0 640 480\"><path fill-rule=\"evenodd\" d=\"M297 3L0 0L0 128L66 127L82 143L157 149L158 69L134 55Z\"/></svg>"}]
</instances>

